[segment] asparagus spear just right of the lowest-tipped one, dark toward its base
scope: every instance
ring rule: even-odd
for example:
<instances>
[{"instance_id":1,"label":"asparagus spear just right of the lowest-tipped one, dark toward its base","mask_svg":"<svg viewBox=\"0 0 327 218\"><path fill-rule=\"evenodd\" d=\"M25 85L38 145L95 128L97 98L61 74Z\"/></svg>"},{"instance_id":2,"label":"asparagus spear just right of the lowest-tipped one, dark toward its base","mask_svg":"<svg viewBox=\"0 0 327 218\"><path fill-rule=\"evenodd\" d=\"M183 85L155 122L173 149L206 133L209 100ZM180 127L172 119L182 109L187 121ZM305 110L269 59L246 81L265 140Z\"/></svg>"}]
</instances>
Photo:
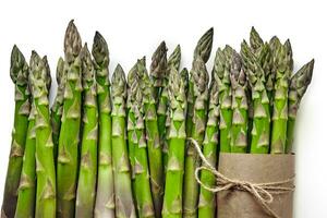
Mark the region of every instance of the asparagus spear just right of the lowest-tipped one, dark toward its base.
<instances>
[{"instance_id":1,"label":"asparagus spear just right of the lowest-tipped one, dark toward its base","mask_svg":"<svg viewBox=\"0 0 327 218\"><path fill-rule=\"evenodd\" d=\"M153 193L155 213L156 216L159 217L161 213L162 198L164 198L162 149L160 147L156 101L153 94L153 86L147 75L147 71L145 66L145 58L143 60L137 61L137 74L140 76L138 83L141 83L142 95L143 95L143 107L144 107L143 109L144 109L144 117L145 117L144 119L145 119L145 130L146 130L146 140L147 140L152 193ZM135 148L135 152L136 150L137 147ZM137 174L135 174L135 177L136 175ZM137 193L136 193L136 198L137 198Z\"/></svg>"}]
</instances>

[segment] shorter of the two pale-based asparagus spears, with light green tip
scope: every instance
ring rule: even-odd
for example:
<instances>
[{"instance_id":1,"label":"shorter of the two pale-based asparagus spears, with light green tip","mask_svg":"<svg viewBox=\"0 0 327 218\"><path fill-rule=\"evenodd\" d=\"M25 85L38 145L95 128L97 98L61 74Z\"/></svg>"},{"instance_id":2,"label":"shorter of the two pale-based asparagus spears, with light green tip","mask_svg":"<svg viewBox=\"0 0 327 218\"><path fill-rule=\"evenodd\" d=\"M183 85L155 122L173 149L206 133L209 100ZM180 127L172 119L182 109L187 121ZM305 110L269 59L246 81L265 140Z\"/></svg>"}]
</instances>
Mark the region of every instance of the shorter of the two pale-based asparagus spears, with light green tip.
<instances>
[{"instance_id":1,"label":"shorter of the two pale-based asparagus spears, with light green tip","mask_svg":"<svg viewBox=\"0 0 327 218\"><path fill-rule=\"evenodd\" d=\"M136 217L126 146L126 82L121 65L112 75L112 162L114 172L116 217Z\"/></svg>"}]
</instances>

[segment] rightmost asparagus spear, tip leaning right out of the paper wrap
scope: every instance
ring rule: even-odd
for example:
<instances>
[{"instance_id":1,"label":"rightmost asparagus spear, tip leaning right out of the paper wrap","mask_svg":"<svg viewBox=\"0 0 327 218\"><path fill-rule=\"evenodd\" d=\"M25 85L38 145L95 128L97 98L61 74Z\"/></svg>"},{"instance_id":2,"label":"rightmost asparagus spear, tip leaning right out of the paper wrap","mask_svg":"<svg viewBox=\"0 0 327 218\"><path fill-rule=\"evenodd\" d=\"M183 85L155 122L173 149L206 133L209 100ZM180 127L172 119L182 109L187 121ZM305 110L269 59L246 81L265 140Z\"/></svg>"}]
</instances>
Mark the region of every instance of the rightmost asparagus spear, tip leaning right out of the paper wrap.
<instances>
[{"instance_id":1,"label":"rightmost asparagus spear, tip leaning right out of the paper wrap","mask_svg":"<svg viewBox=\"0 0 327 218\"><path fill-rule=\"evenodd\" d=\"M301 99L303 98L306 88L311 83L314 62L314 60L311 60L308 63L303 65L291 78L289 88L288 136L286 144L286 153L288 154L292 153L296 113Z\"/></svg>"}]
</instances>

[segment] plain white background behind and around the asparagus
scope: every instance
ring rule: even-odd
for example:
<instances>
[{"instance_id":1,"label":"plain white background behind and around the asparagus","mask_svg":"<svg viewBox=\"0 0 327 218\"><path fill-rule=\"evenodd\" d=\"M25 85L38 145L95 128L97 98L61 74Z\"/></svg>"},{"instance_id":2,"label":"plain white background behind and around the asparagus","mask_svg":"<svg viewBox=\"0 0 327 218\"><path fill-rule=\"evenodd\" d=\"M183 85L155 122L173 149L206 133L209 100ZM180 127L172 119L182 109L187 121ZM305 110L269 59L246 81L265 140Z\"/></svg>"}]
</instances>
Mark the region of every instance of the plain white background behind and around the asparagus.
<instances>
[{"instance_id":1,"label":"plain white background behind and around the asparagus","mask_svg":"<svg viewBox=\"0 0 327 218\"><path fill-rule=\"evenodd\" d=\"M150 55L165 39L169 52L181 44L182 63L190 68L194 46L209 27L215 28L214 49L230 44L237 50L255 26L264 39L277 35L291 39L295 69L315 58L312 85L296 123L296 218L327 217L327 12L324 1L8 1L0 3L0 195L2 196L11 143L14 86L9 76L10 52L16 44L26 59L31 50L48 55L52 75L63 55L68 22L75 20L89 46L95 31L107 39L110 71L122 64L128 71L136 58ZM324 22L325 21L325 22ZM208 69L211 69L213 57ZM55 80L53 80L55 81ZM52 88L56 88L53 83ZM55 89L53 89L55 90ZM1 197L0 197L1 199Z\"/></svg>"}]
</instances>

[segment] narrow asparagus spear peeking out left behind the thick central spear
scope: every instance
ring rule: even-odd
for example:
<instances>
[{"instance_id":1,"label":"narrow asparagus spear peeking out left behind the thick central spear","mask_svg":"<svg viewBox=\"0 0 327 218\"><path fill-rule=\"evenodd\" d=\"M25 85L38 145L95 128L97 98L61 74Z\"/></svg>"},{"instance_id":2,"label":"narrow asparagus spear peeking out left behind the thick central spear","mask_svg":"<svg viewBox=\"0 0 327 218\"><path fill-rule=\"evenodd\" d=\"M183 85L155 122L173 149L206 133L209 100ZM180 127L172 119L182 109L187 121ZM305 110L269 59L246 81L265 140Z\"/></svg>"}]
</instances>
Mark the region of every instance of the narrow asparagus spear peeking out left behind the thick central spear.
<instances>
[{"instance_id":1,"label":"narrow asparagus spear peeking out left behind the thick central spear","mask_svg":"<svg viewBox=\"0 0 327 218\"><path fill-rule=\"evenodd\" d=\"M157 114L158 114L158 131L160 137L160 147L162 148L164 156L164 167L165 172L167 171L167 161L168 161L168 142L166 138L166 121L167 121L167 112L168 112L168 78L170 68L175 68L177 70L180 68L181 62L181 47L178 45L173 52L170 55L168 59L168 66L166 76L164 80L164 87L160 92L160 97L158 101Z\"/></svg>"}]
</instances>

